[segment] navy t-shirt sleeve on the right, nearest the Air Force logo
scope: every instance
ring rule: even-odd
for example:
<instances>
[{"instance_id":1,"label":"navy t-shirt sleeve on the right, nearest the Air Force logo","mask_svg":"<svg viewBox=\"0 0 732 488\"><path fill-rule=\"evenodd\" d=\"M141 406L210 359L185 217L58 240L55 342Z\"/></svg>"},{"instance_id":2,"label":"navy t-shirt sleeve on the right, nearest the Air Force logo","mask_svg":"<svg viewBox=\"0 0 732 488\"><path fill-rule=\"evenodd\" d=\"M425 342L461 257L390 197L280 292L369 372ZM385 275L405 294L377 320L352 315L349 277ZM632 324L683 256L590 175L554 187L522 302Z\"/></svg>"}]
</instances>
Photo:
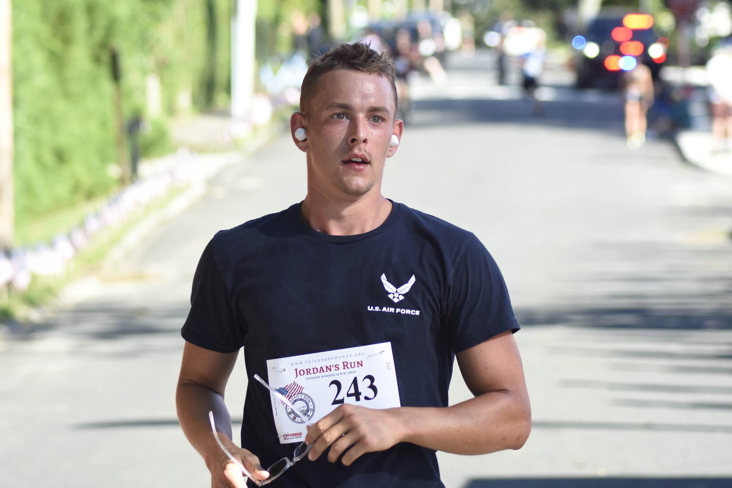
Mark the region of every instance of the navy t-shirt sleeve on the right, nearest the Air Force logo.
<instances>
[{"instance_id":1,"label":"navy t-shirt sleeve on the right, nearest the Air Force logo","mask_svg":"<svg viewBox=\"0 0 732 488\"><path fill-rule=\"evenodd\" d=\"M506 283L488 249L471 236L447 291L447 342L455 353L520 326Z\"/></svg>"}]
</instances>

